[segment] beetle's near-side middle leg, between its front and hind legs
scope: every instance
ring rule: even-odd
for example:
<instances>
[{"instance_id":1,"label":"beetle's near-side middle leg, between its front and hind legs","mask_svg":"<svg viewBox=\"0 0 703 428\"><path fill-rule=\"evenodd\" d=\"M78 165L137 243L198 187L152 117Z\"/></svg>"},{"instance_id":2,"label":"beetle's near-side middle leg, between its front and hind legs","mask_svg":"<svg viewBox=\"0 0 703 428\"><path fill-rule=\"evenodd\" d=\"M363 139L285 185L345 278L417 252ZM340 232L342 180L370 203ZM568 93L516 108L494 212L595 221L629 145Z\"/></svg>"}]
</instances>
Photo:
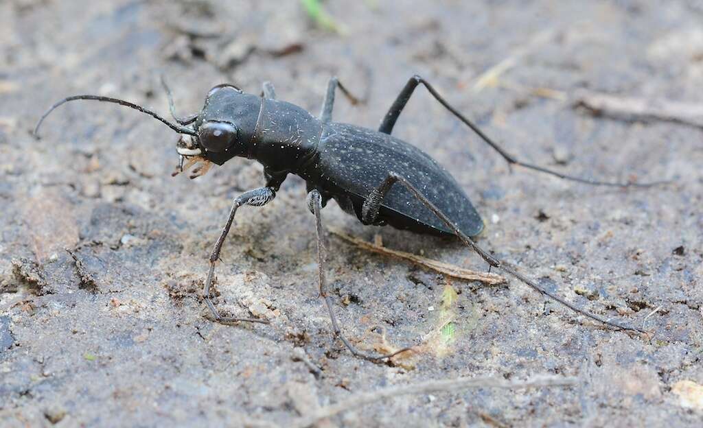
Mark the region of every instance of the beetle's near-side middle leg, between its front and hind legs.
<instances>
[{"instance_id":1,"label":"beetle's near-side middle leg, between its front and hind legs","mask_svg":"<svg viewBox=\"0 0 703 428\"><path fill-rule=\"evenodd\" d=\"M317 231L317 261L318 261L318 270L319 270L319 283L320 283L320 296L325 299L325 305L327 306L327 310L330 313L330 320L332 320L332 328L333 328L333 334L335 337L338 337L344 346L349 349L349 352L351 352L354 356L358 358L363 358L364 360L372 361L374 363L378 363L382 360L385 360L387 358L392 358L398 354L401 354L401 352L409 351L412 348L403 348L400 349L399 351L395 351L392 354L387 354L387 355L379 355L379 356L373 356L369 354L364 354L361 351L358 351L354 346L352 346L351 343L347 340L344 335L342 335L342 330L340 329L340 325L337 322L337 317L335 316L335 311L333 309L333 301L332 297L328 296L327 294L327 278L325 275L325 272L327 271L327 245L325 242L325 232L323 231L322 228L322 217L321 217L321 209L322 209L322 195L318 190L313 189L308 193L307 196L307 203L308 207L311 210L313 214L315 214L315 228Z\"/></svg>"}]
</instances>

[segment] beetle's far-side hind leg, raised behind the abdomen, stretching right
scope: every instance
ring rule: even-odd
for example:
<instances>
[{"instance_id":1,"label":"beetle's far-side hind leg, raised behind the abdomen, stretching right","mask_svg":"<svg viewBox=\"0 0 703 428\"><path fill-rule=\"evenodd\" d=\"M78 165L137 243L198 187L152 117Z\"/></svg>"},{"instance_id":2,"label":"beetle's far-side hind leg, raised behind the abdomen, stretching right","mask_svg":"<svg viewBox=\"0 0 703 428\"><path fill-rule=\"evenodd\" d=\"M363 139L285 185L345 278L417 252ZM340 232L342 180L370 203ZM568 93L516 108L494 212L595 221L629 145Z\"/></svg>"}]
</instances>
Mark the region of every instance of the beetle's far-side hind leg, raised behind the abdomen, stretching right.
<instances>
[{"instance_id":1,"label":"beetle's far-side hind leg, raised behind the abdomen, stretching right","mask_svg":"<svg viewBox=\"0 0 703 428\"><path fill-rule=\"evenodd\" d=\"M506 162L508 162L508 165L517 165L520 167L524 167L527 169L532 169L533 171L538 171L542 172L544 174L550 174L552 176L559 177L560 179L564 180L570 180L570 181L577 181L579 183L585 183L585 184L591 184L593 186L613 186L613 187L651 187L651 186L657 186L659 184L664 184L664 183L669 183L670 181L654 181L652 183L618 183L614 181L598 181L598 180L591 180L591 179L582 179L581 177L576 177L576 176L569 176L567 174L562 174L558 171L554 171L553 169L548 169L545 167L541 167L539 165L535 164L529 164L527 162L522 162L521 160L517 160L516 157L510 155L508 152L505 151L500 145L498 145L495 141L491 140L489 136L486 136L486 134L479 129L473 122L471 122L469 119L467 119L464 115L462 115L456 108L453 108L447 100L444 99L441 95L439 95L439 92L437 92L434 87L430 83L428 83L425 79L422 77L418 76L415 74L413 77L411 77L408 80L408 83L405 85L403 90L399 93L398 97L394 101L394 103L391 105L391 108L388 109L388 112L386 113L385 117L383 118L380 127L378 127L378 131L382 132L384 134L390 134L393 131L393 127L396 123L396 120L398 120L398 117L400 116L400 113L403 111L405 108L405 105L408 103L408 100L410 97L413 95L413 91L415 91L415 88L418 87L419 84L425 85L425 88L427 88L427 91L430 92L430 94L434 97L435 100L437 100L441 105L446 108L446 110L449 110L452 115L454 115L457 119L459 119L461 122L463 122L467 127L470 127L472 131L474 131L476 134L478 134L479 137L488 145L491 146L498 154L500 154L503 159L505 159Z\"/></svg>"}]
</instances>

